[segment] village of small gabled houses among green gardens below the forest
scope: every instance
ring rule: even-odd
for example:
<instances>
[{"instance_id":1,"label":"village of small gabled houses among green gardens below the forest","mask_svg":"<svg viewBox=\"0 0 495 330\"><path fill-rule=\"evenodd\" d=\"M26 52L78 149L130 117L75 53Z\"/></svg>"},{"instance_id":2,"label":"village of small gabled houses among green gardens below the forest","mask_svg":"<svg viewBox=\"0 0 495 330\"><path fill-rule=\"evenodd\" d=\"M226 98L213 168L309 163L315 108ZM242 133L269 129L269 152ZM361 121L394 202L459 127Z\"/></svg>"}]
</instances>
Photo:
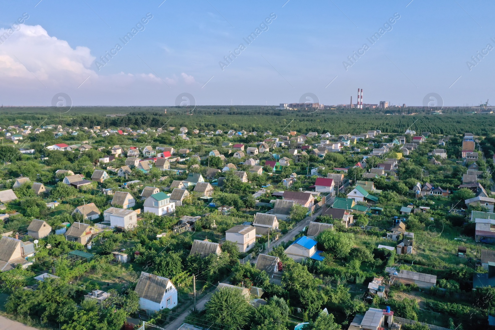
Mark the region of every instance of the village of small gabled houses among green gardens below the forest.
<instances>
[{"instance_id":1,"label":"village of small gabled houses among green gardens below the forest","mask_svg":"<svg viewBox=\"0 0 495 330\"><path fill-rule=\"evenodd\" d=\"M495 320L485 137L0 130L2 311L21 322L467 330ZM97 328L108 320L114 328Z\"/></svg>"}]
</instances>

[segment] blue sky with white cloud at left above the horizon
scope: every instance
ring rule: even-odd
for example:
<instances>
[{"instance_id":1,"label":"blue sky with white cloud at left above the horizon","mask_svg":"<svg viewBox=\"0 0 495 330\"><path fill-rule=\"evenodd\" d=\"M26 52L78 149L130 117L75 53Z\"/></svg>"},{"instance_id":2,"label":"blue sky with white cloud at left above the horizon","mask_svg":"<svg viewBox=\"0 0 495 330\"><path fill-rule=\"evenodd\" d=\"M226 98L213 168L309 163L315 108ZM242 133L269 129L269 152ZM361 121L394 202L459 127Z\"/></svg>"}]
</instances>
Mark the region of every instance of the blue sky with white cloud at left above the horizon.
<instances>
[{"instance_id":1,"label":"blue sky with white cloud at left above the horizon","mask_svg":"<svg viewBox=\"0 0 495 330\"><path fill-rule=\"evenodd\" d=\"M357 88L364 103L421 105L437 93L446 105L495 104L495 50L471 60L495 47L495 22L484 17L495 7L489 1L38 1L3 1L4 105L49 105L60 92L74 105L174 105L181 93L200 105L273 105L304 93L339 104L355 101ZM9 34L23 13L29 18ZM124 45L119 38L147 14ZM243 38L270 15L248 45ZM372 45L367 38L394 15ZM121 49L98 67L116 44ZM225 62L240 44L245 49ZM347 61L363 44L369 49Z\"/></svg>"}]
</instances>

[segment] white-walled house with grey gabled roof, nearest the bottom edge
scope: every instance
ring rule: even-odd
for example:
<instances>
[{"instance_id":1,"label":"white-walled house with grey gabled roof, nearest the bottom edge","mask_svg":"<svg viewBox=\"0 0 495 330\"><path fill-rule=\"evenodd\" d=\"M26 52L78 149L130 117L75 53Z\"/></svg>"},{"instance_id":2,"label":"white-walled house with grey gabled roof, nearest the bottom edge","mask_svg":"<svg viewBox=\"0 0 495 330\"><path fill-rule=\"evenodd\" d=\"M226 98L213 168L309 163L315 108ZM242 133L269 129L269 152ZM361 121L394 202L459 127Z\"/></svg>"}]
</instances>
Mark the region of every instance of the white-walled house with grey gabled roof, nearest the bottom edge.
<instances>
[{"instance_id":1,"label":"white-walled house with grey gabled roof, nearest the bottom edge","mask_svg":"<svg viewBox=\"0 0 495 330\"><path fill-rule=\"evenodd\" d=\"M177 289L167 278L141 272L134 291L139 296L141 309L156 312L177 306Z\"/></svg>"}]
</instances>

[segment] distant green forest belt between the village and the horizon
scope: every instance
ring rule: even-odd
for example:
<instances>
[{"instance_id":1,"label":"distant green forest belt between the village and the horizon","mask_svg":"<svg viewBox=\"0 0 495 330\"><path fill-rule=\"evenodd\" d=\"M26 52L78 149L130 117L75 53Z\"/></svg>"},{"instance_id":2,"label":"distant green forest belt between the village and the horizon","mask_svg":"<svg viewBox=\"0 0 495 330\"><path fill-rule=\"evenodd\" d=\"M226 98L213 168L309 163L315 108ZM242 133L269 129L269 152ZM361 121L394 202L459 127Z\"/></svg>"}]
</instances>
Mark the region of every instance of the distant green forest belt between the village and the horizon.
<instances>
[{"instance_id":1,"label":"distant green forest belt between the village and the horizon","mask_svg":"<svg viewBox=\"0 0 495 330\"><path fill-rule=\"evenodd\" d=\"M403 134L408 128L432 134L463 134L491 136L495 134L495 115L463 114L463 109L446 109L443 115L394 115L361 110L304 111L278 110L274 107L197 107L192 109L167 107L73 107L59 114L55 108L2 108L0 126L13 124L63 124L70 127L131 127L134 129L182 127L200 131L245 130L282 134L288 131L331 134L359 134L368 130ZM416 110L415 110L416 111ZM445 111L445 109L444 109ZM453 111L453 112L449 112ZM126 116L106 117L122 113ZM226 133L226 132L225 132Z\"/></svg>"}]
</instances>

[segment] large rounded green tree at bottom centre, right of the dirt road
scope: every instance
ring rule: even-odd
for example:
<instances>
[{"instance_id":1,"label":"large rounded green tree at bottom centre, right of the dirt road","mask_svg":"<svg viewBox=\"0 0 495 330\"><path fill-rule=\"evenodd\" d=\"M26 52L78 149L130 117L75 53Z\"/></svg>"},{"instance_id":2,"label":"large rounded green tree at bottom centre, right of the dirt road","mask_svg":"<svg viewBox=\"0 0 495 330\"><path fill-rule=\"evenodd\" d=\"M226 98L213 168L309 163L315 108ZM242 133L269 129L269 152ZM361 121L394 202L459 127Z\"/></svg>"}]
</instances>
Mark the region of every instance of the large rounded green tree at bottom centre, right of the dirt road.
<instances>
[{"instance_id":1,"label":"large rounded green tree at bottom centre, right of the dirt road","mask_svg":"<svg viewBox=\"0 0 495 330\"><path fill-rule=\"evenodd\" d=\"M206 320L216 323L221 329L230 330L247 325L252 307L241 290L221 288L204 305L204 310Z\"/></svg>"}]
</instances>

